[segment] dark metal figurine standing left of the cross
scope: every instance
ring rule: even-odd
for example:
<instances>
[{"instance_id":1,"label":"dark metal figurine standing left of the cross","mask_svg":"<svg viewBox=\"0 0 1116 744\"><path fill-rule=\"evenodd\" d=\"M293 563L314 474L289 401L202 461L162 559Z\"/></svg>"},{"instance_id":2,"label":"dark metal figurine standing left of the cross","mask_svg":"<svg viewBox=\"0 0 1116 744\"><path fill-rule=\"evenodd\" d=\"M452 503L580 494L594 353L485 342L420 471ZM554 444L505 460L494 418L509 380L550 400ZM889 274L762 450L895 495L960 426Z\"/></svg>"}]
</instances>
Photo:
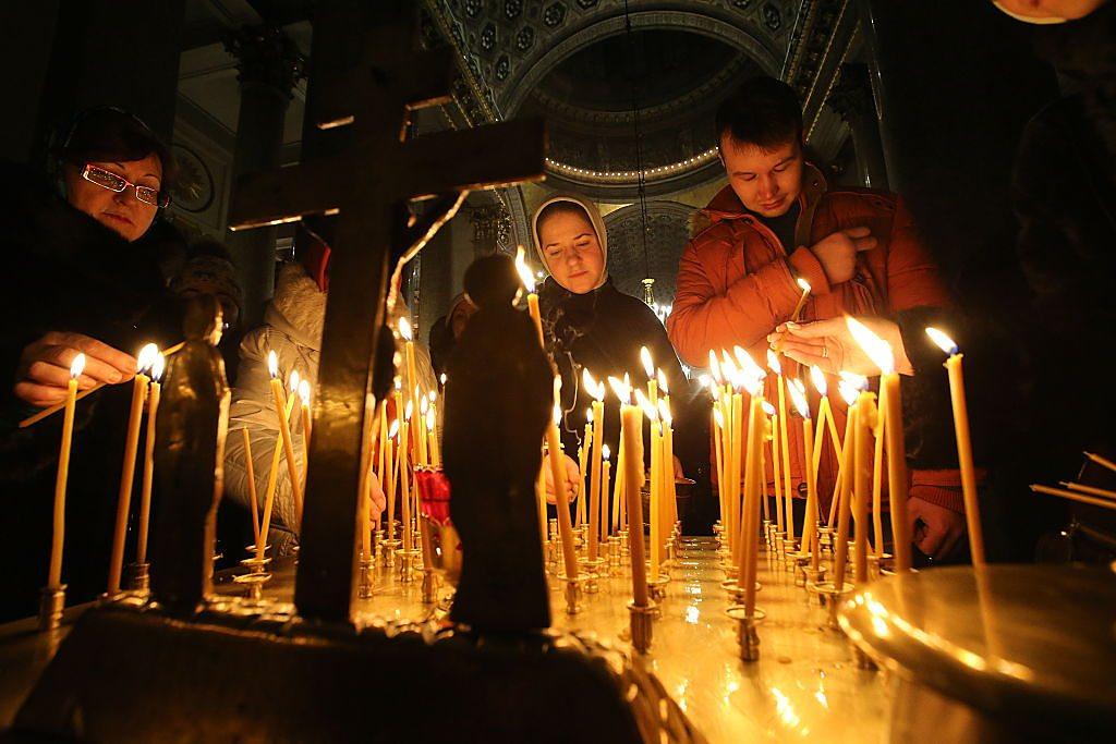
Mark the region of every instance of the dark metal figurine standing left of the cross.
<instances>
[{"instance_id":1,"label":"dark metal figurine standing left of the cross","mask_svg":"<svg viewBox=\"0 0 1116 744\"><path fill-rule=\"evenodd\" d=\"M224 475L229 384L217 350L221 306L210 296L190 301L186 342L167 359L155 428L160 509L152 563L152 598L190 613L211 589L217 506Z\"/></svg>"}]
</instances>

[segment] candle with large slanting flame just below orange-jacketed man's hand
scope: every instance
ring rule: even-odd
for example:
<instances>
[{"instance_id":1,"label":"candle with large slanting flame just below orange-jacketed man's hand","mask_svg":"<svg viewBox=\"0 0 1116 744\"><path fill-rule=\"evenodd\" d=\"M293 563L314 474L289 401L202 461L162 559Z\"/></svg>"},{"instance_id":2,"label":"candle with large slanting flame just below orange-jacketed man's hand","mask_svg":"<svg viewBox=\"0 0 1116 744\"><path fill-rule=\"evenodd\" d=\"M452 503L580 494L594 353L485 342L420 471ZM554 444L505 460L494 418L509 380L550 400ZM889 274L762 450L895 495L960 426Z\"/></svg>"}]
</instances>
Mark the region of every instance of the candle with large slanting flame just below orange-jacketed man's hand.
<instances>
[{"instance_id":1,"label":"candle with large slanting flame just below orange-jacketed man's hand","mask_svg":"<svg viewBox=\"0 0 1116 744\"><path fill-rule=\"evenodd\" d=\"M911 570L911 535L907 532L907 467L906 444L903 442L903 396L899 376L895 371L895 355L885 340L873 334L855 318L846 318L849 332L860 345L873 364L879 367L879 397L886 403L884 436L887 447L887 491L892 509L892 533L895 540L895 571Z\"/></svg>"}]
</instances>

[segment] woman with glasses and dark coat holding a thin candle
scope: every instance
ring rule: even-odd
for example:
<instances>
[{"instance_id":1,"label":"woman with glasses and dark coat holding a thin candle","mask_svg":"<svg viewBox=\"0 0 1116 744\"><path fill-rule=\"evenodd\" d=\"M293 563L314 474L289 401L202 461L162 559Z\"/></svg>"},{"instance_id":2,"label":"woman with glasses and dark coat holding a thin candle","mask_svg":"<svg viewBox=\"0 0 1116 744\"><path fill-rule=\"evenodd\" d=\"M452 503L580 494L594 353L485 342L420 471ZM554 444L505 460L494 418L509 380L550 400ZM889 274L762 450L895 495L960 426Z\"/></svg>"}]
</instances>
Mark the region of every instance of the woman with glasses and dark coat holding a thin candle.
<instances>
[{"instance_id":1,"label":"woman with glasses and dark coat holding a thin candle","mask_svg":"<svg viewBox=\"0 0 1116 744\"><path fill-rule=\"evenodd\" d=\"M84 352L67 495L62 581L68 602L105 590L124 433L147 342L182 339L163 265L184 255L177 232L157 220L169 203L169 151L140 119L90 109L64 133L44 178L2 164L0 235L9 287L0 293L0 620L31 615L46 583L61 415L19 421L65 397L69 365ZM138 480L138 479L137 479Z\"/></svg>"}]
</instances>

